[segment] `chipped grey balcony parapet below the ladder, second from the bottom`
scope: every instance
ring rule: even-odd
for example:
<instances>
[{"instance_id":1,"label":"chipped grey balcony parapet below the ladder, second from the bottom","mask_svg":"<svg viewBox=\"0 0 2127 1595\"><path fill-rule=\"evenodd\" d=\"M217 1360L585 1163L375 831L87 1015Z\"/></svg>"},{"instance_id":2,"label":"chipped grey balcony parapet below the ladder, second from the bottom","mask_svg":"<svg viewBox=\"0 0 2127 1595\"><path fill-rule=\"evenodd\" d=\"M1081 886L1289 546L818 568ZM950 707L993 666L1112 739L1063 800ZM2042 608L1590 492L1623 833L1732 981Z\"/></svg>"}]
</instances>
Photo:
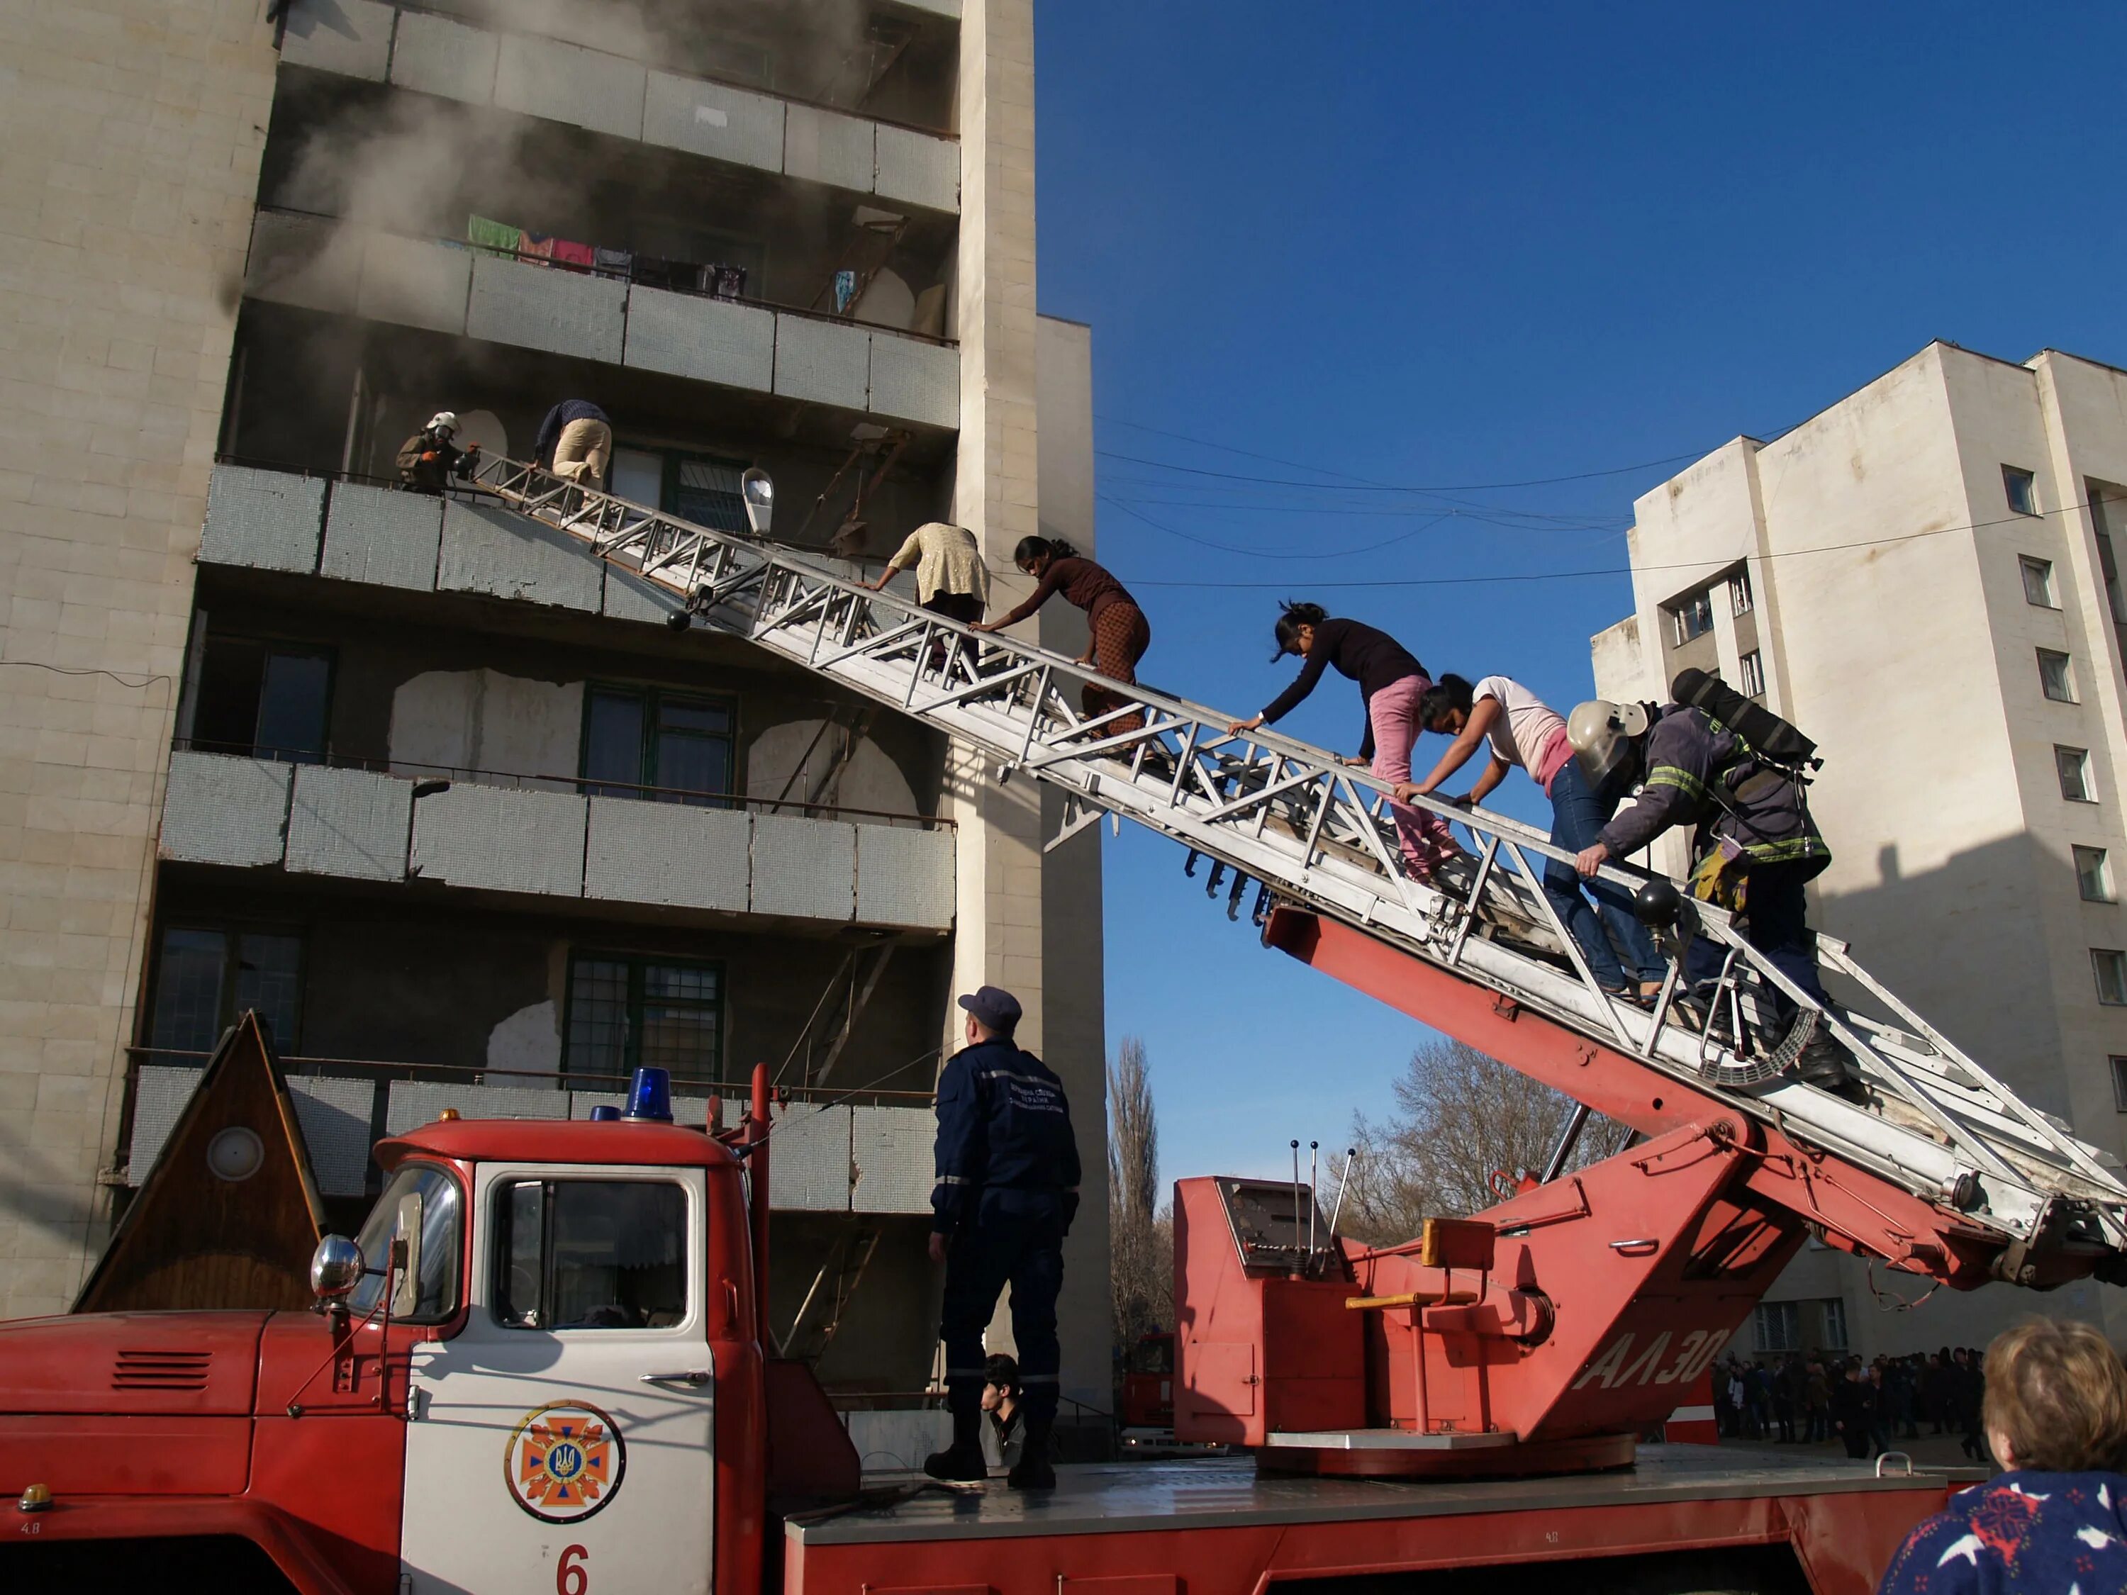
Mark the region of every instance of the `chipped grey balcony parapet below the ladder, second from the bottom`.
<instances>
[{"instance_id":1,"label":"chipped grey balcony parapet below the ladder, second from the bottom","mask_svg":"<svg viewBox=\"0 0 2127 1595\"><path fill-rule=\"evenodd\" d=\"M177 749L170 863L947 931L949 829L428 783Z\"/></svg>"}]
</instances>

